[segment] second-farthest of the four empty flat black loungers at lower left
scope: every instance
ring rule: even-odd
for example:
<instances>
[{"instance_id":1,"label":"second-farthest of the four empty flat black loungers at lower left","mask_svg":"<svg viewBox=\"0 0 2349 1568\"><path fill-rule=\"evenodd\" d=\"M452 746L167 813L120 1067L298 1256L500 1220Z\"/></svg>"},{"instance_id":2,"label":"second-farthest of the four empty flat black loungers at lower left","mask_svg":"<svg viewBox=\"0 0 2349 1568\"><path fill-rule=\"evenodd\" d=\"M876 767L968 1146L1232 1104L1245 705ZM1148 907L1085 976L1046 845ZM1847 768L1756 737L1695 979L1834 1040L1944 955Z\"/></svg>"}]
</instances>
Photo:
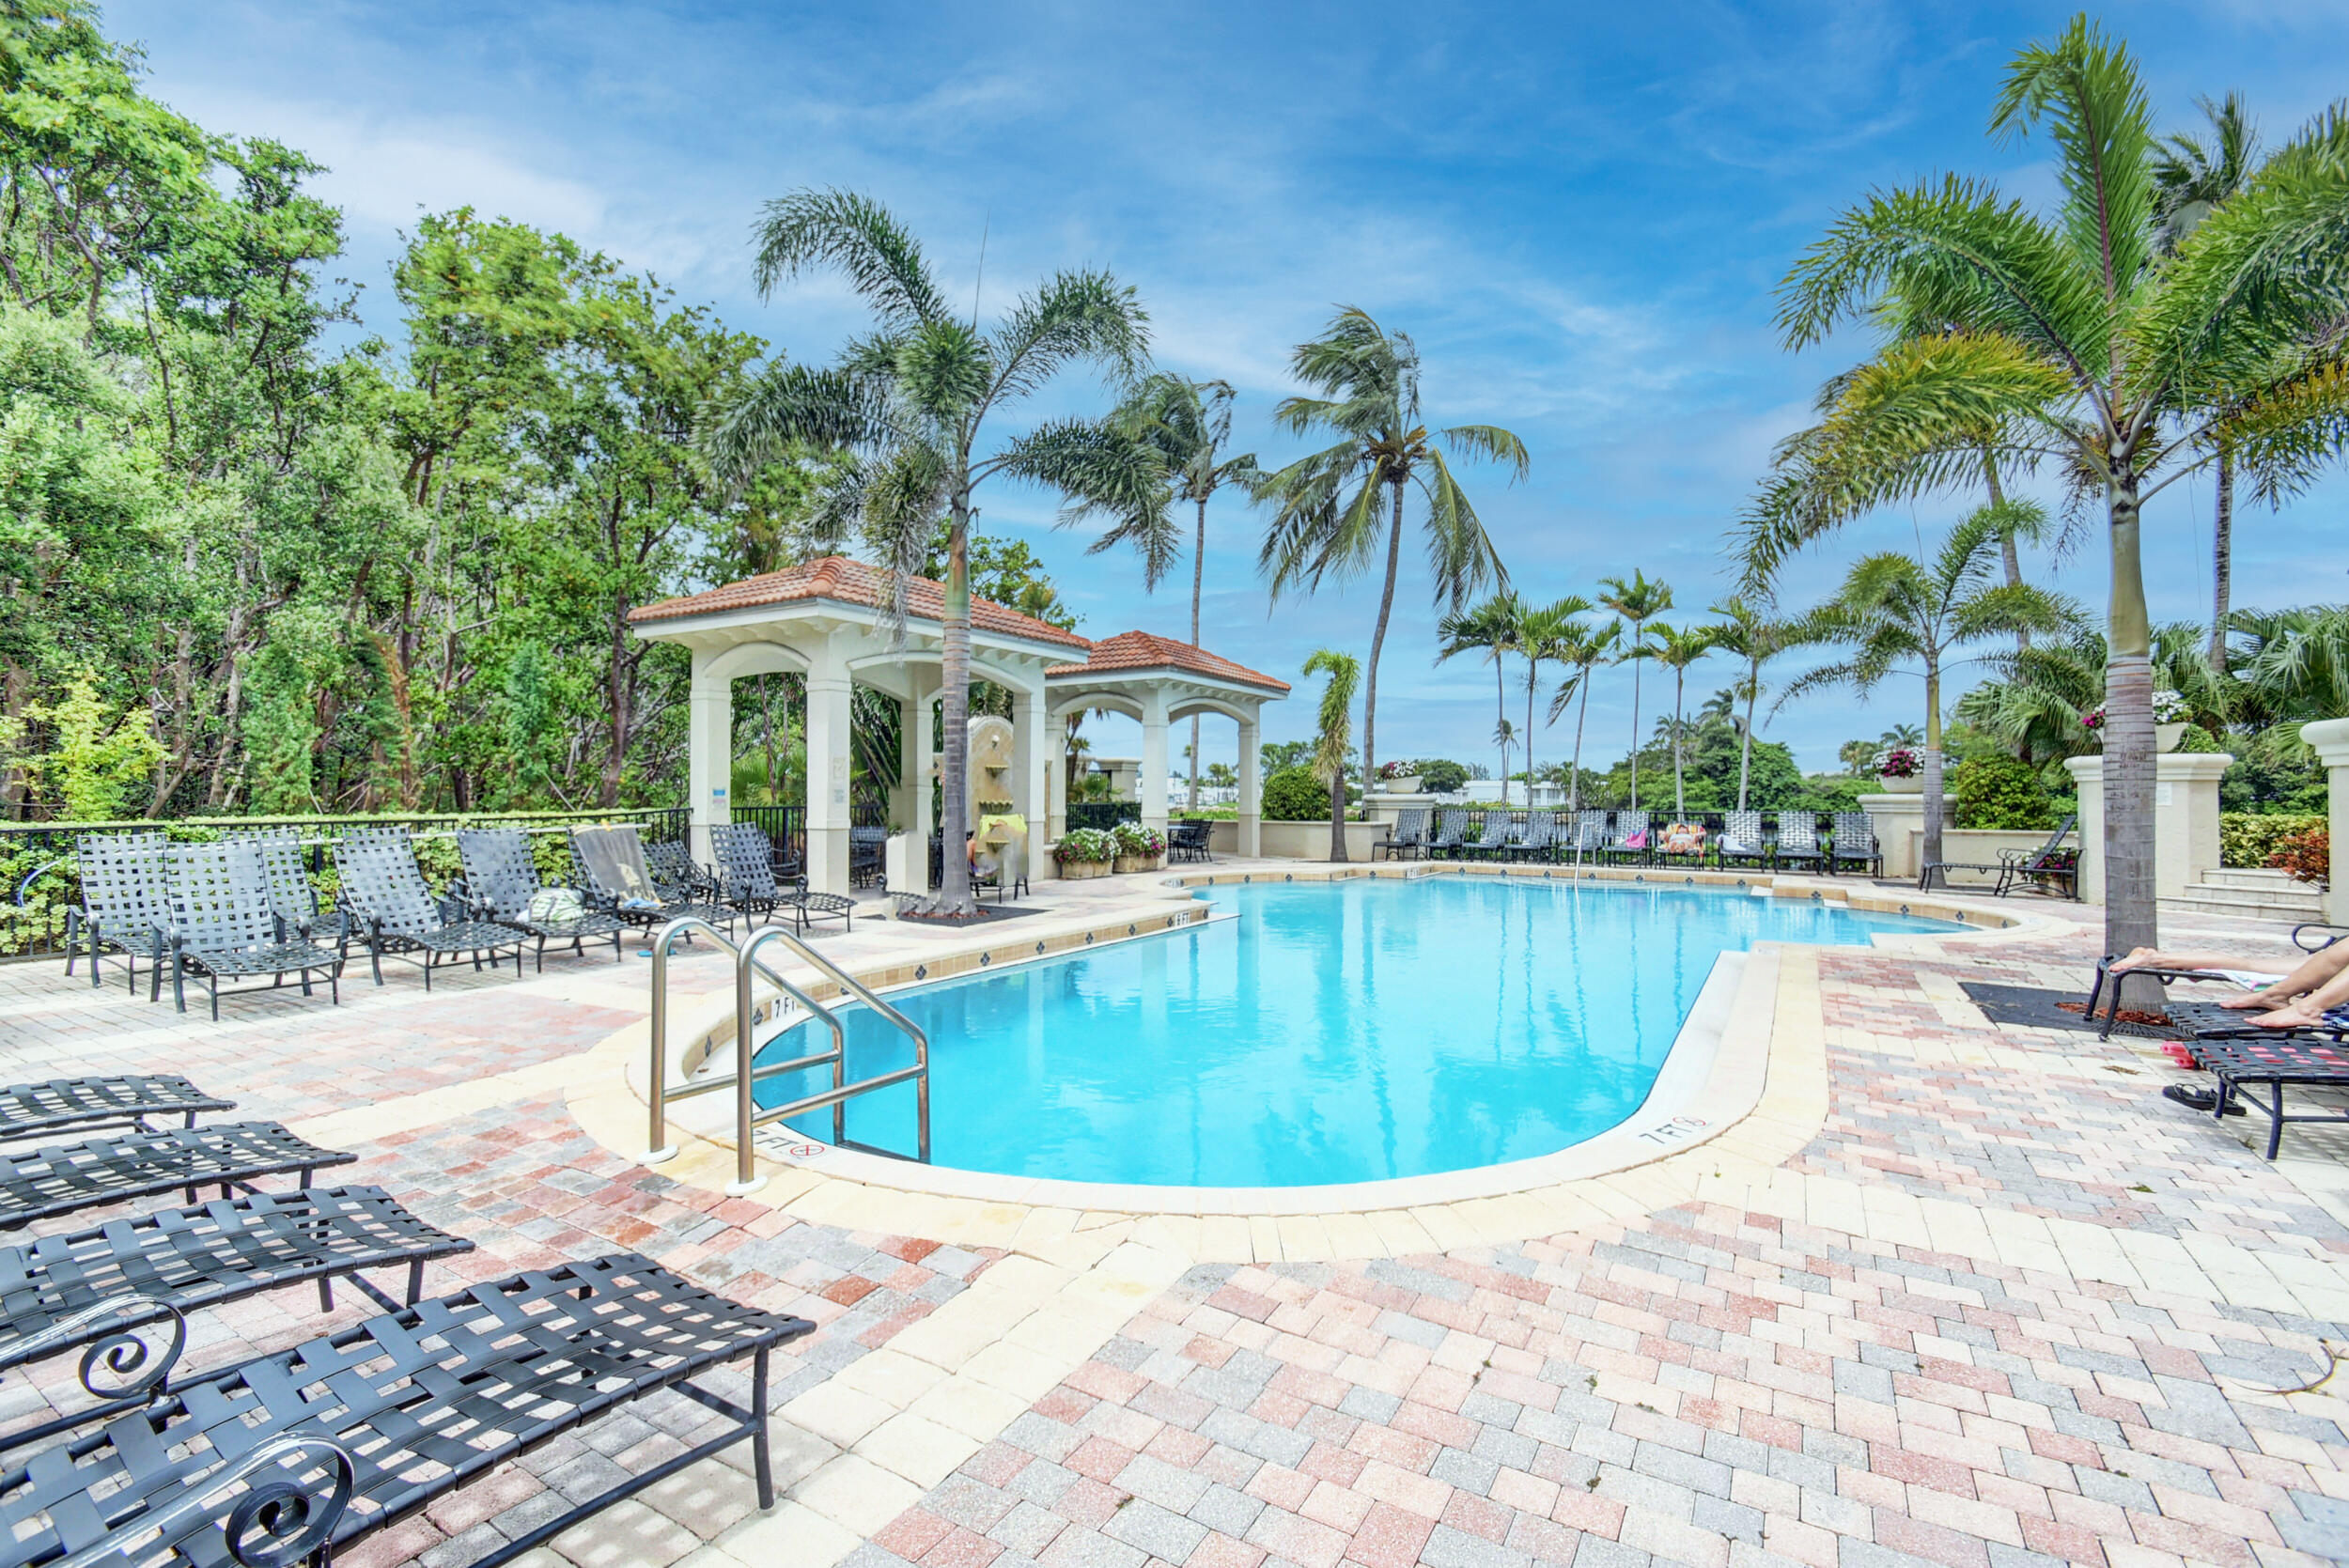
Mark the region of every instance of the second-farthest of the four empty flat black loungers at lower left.
<instances>
[{"instance_id":1,"label":"second-farthest of the four empty flat black loungers at lower left","mask_svg":"<svg viewBox=\"0 0 2349 1568\"><path fill-rule=\"evenodd\" d=\"M164 1127L89 1143L0 1150L0 1230L19 1230L52 1214L73 1214L127 1197L179 1188L195 1202L200 1185L254 1190L256 1176L310 1174L350 1164L343 1155L305 1143L277 1122L214 1122Z\"/></svg>"}]
</instances>

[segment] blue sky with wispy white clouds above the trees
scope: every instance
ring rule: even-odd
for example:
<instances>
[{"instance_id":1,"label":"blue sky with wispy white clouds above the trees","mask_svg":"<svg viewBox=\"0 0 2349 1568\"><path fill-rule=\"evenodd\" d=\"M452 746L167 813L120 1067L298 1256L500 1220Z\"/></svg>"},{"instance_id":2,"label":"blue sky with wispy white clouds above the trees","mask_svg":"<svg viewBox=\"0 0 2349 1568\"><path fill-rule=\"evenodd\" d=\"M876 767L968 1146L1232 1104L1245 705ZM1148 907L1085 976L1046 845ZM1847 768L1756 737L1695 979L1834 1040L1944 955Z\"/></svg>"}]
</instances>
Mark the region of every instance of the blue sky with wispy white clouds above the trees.
<instances>
[{"instance_id":1,"label":"blue sky with wispy white clouds above the trees","mask_svg":"<svg viewBox=\"0 0 2349 1568\"><path fill-rule=\"evenodd\" d=\"M1301 451L1268 430L1290 345L1334 305L1362 305L1419 340L1433 420L1527 439L1525 484L1470 474L1520 589L1588 594L1642 568L1701 615L1727 592L1722 530L1773 441L1865 347L1785 354L1776 282L1870 185L1961 169L2044 197L2044 143L1992 143L1983 127L2008 54L2069 7L1597 9L117 0L108 26L146 42L174 108L331 167L350 277L385 322L399 228L474 204L559 228L824 359L860 319L853 300L806 282L761 303L747 228L763 197L848 185L923 235L956 291L982 282L984 230L989 310L1055 268L1111 268L1149 305L1160 364L1240 387L1238 434L1266 460ZM2180 129L2199 127L2199 94L2241 89L2281 138L2349 92L2340 0L2105 19ZM1102 390L1071 380L1034 413L1097 406ZM1964 505L1849 530L1790 573L1785 601ZM2189 481L2149 512L2163 617L2208 615L2208 484ZM2236 603L2349 596L2344 507L2335 479L2246 514ZM982 530L1034 540L1088 634L1184 631L1179 594L1146 599L1132 559L1085 556L1052 530L1050 498L1001 488L982 512ZM1367 650L1374 584L1268 610L1257 519L1219 505L1210 533L1210 648L1285 678L1315 646ZM2027 570L2100 608L2095 545ZM1489 669L1438 669L1433 650L1407 552L1379 753L1489 756ZM1691 704L1729 674L1691 671ZM1764 735L1825 768L1839 742L1919 707L1917 683L1893 683L1865 709L1788 707ZM1268 735L1304 735L1311 704L1283 709ZM1628 723L1630 676L1602 671L1586 761L1621 756ZM1097 749L1130 749L1104 730ZM1536 761L1569 744L1548 730ZM1210 725L1203 753L1229 751L1229 725Z\"/></svg>"}]
</instances>

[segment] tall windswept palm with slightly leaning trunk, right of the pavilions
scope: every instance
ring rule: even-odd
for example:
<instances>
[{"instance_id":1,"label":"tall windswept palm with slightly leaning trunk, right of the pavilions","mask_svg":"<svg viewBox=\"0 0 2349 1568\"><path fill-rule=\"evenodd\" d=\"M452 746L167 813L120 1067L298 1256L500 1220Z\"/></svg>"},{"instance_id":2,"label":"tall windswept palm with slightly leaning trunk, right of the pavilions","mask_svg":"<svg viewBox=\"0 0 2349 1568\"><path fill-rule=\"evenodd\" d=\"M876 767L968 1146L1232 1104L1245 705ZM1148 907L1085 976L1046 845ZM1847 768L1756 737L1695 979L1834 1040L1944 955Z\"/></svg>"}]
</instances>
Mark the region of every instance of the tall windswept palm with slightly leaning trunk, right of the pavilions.
<instances>
[{"instance_id":1,"label":"tall windswept palm with slightly leaning trunk, right of the pavilions","mask_svg":"<svg viewBox=\"0 0 2349 1568\"><path fill-rule=\"evenodd\" d=\"M1367 777L1379 763L1379 650L1386 646L1395 575L1402 568L1405 495L1416 486L1426 502L1421 533L1435 603L1459 610L1485 582L1508 587L1508 570L1485 538L1475 505L1452 477L1445 448L1461 458L1503 462L1513 481L1525 479L1529 458L1525 441L1499 425L1452 425L1431 439L1419 411L1419 350L1405 333L1384 331L1360 310L1341 310L1320 338L1299 343L1290 354L1290 373L1322 397L1283 399L1273 420L1294 434L1330 430L1339 441L1257 484L1257 498L1273 502L1259 566L1271 575L1278 601L1292 587L1313 592L1322 580L1346 582L1360 575L1379 556L1384 535L1386 587L1379 589L1379 624L1369 634L1362 688Z\"/></svg>"}]
</instances>

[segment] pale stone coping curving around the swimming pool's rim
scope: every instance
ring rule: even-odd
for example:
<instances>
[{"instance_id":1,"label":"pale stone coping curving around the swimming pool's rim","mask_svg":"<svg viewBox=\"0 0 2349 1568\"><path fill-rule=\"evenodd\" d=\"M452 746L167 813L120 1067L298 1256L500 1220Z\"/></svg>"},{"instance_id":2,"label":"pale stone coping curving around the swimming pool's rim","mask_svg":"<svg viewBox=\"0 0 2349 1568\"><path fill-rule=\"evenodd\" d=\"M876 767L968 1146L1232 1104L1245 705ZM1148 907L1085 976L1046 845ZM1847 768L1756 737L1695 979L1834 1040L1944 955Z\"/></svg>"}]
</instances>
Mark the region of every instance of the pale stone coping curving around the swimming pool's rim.
<instances>
[{"instance_id":1,"label":"pale stone coping curving around the swimming pool's rim","mask_svg":"<svg viewBox=\"0 0 2349 1568\"><path fill-rule=\"evenodd\" d=\"M956 953L928 958L921 965L890 965L857 979L876 991L900 991L937 979L951 979L998 962L1043 962L1066 955L1071 948L1099 946L1104 941L1139 941L1170 930L1198 925L1207 918L1205 904L1191 899L1191 887L1219 883L1330 883L1365 876L1416 878L1428 876L1423 864L1405 866L1301 866L1278 873L1250 871L1191 871L1158 878L1158 887L1182 899L1182 908L1165 911L1160 922L1153 913L1120 915L1109 922L1076 922L1073 930L1022 932L1015 953L1003 953L1008 944L972 944ZM1875 951L1914 951L1919 955L1940 953L1945 944L1964 948L2004 946L2044 937L2053 930L2069 930L2055 915L2027 913L2013 906L1983 906L1964 894L1889 894L1879 887L1846 887L1818 878L1783 878L1769 873L1705 873L1654 869L1557 869L1557 866L1445 866L1442 873L1503 876L1527 880L1595 880L1633 883L1656 887L1689 885L1743 885L1755 894L1806 897L1811 901L1846 904L1851 908L1879 913L1907 913L1940 918L1966 925L1966 932L1891 934L1877 937ZM1137 890L1146 892L1146 890ZM1189 913L1198 911L1198 913ZM1189 915L1189 918L1186 918ZM1229 918L1229 915L1226 915ZM1062 1216L1071 1223L1109 1223L1116 1218L1156 1218L1191 1237L1186 1249L1198 1258L1224 1258L1240 1253L1264 1256L1266 1244L1276 1256L1297 1251L1297 1237L1278 1242L1283 1230L1308 1228L1346 1235L1341 1253L1391 1256L1398 1251L1423 1251L1431 1242L1452 1246L1468 1235L1492 1232L1522 1239L1527 1235L1555 1232L1560 1214L1581 1218L1623 1209L1626 1183L1637 1183L1647 1167L1672 1162L1762 1162L1769 1167L1792 1157L1818 1131L1825 1117L1825 1038L1818 1009L1816 958L1823 951L1811 944L1764 941L1743 955L1736 967L1729 1000L1719 1007L1722 1023L1712 1038L1712 1061L1701 1082L1689 1084L1684 1099L1658 1103L1651 1091L1642 1108L1618 1127L1574 1143L1569 1148L1513 1160L1468 1171L1440 1171L1428 1176L1395 1176L1362 1183L1327 1183L1313 1188L1170 1188L1137 1183L1088 1183L1036 1176L998 1176L989 1171L963 1171L951 1167L928 1167L904 1160L888 1160L860 1150L834 1148L789 1134L787 1129L761 1129L754 1136L759 1171L768 1178L766 1190L754 1192L754 1202L773 1202L794 1211L834 1209L864 1199L890 1199L897 1204L977 1204L994 1223L1019 1228L1034 1216ZM918 969L918 974L916 974ZM1658 1070L1658 1087L1672 1073L1672 1061L1684 1047L1701 1045L1691 1038L1691 1026L1708 1007L1708 993L1722 979L1719 965L1701 988L1691 1014L1675 1038L1675 1047ZM712 1030L733 1033L733 1014L726 1009L723 1026ZM644 1063L646 1030L632 1026L618 1030L590 1056L599 1059L599 1073L583 1075L571 1091L573 1113L599 1141L615 1153L634 1155L630 1145L641 1143L646 1117ZM634 1070L630 1070L634 1066ZM721 1185L733 1174L733 1136L723 1106L731 1096L707 1096L672 1108L672 1143L688 1145L662 1174L707 1185ZM630 1134L627 1129L634 1129ZM1719 1171L1715 1171L1719 1174ZM1508 1218L1499 1218L1506 1214ZM968 1216L965 1216L968 1218ZM1048 1230L1052 1223L1045 1225ZM1271 1228L1271 1237L1259 1235ZM1212 1237L1212 1239L1210 1239ZM1245 1246L1243 1246L1245 1237Z\"/></svg>"}]
</instances>

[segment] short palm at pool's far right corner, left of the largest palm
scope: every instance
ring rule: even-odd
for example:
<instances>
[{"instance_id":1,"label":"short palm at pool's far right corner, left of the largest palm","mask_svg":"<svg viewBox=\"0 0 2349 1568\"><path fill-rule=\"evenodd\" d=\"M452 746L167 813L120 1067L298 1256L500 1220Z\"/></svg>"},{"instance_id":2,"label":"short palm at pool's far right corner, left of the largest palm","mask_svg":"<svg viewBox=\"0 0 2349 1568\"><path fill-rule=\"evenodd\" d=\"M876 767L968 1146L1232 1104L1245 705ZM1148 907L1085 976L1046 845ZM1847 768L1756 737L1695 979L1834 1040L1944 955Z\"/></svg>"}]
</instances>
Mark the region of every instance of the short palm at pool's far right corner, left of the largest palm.
<instances>
[{"instance_id":1,"label":"short palm at pool's far right corner, left of the largest palm","mask_svg":"<svg viewBox=\"0 0 2349 1568\"><path fill-rule=\"evenodd\" d=\"M1851 657L1792 681L1771 711L1802 692L1849 685L1863 697L1914 662L1924 676L1924 859L1940 859L1940 678L1952 653L1994 634L2055 631L2067 610L2051 594L1992 580L1992 507L1950 530L1931 561L1900 552L1863 556L1842 592L1804 617L1804 641L1842 643Z\"/></svg>"}]
</instances>

